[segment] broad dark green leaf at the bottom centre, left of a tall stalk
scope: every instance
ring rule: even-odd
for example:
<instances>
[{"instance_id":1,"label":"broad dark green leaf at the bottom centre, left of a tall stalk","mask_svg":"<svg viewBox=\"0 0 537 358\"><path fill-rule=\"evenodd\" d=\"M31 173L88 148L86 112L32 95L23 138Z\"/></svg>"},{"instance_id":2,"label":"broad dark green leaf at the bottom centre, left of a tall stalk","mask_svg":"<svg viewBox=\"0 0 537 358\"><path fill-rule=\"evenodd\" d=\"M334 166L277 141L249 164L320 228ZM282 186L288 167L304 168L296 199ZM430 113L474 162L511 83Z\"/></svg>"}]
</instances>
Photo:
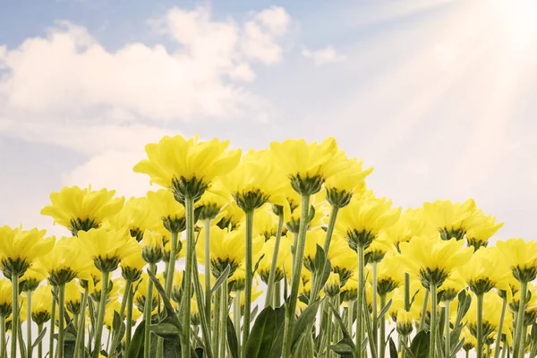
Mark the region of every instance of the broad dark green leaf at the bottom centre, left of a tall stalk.
<instances>
[{"instance_id":1,"label":"broad dark green leaf at the bottom centre, left of a tall stalk","mask_svg":"<svg viewBox=\"0 0 537 358\"><path fill-rule=\"evenodd\" d=\"M251 328L248 342L244 345L245 355L249 358L268 358L274 340L276 312L270 306L260 312Z\"/></svg>"}]
</instances>

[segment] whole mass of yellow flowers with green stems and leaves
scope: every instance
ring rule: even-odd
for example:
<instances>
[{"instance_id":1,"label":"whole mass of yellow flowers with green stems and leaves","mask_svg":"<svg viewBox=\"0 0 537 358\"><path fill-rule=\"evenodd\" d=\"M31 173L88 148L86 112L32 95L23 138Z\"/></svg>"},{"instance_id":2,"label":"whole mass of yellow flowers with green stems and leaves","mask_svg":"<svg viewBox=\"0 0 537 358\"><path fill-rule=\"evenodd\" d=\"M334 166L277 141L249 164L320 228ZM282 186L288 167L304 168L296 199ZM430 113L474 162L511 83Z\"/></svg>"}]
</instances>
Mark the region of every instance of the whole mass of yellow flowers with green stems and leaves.
<instances>
[{"instance_id":1,"label":"whole mass of yellow flowers with green stems and leaves","mask_svg":"<svg viewBox=\"0 0 537 358\"><path fill-rule=\"evenodd\" d=\"M473 200L394 208L332 138L227 147L148 144L142 198L52 193L71 237L0 227L0 358L537 356L536 242L489 247Z\"/></svg>"}]
</instances>

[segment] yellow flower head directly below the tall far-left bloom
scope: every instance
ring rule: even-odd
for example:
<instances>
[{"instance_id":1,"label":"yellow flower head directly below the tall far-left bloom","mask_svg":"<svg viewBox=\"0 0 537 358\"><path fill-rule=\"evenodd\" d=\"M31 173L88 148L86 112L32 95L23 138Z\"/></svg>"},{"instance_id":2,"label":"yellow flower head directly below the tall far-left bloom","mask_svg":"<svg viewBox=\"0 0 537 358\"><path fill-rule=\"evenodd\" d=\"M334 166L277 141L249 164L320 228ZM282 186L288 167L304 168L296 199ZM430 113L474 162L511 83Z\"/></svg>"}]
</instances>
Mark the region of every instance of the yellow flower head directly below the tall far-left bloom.
<instances>
[{"instance_id":1,"label":"yellow flower head directly below the tall far-left bloom","mask_svg":"<svg viewBox=\"0 0 537 358\"><path fill-rule=\"evenodd\" d=\"M55 243L52 251L39 260L47 268L52 285L64 285L75 277L85 280L91 278L92 260L90 255L82 250L81 243L74 238L61 238Z\"/></svg>"}]
</instances>

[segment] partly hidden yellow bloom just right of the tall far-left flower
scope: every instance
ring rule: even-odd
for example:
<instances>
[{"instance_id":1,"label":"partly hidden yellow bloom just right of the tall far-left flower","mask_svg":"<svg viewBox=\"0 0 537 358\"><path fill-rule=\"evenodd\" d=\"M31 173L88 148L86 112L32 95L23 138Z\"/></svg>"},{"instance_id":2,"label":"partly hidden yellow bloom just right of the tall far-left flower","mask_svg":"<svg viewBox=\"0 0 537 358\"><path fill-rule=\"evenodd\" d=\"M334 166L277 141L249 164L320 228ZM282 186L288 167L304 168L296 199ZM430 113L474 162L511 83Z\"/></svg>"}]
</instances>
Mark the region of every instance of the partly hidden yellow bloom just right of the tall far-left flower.
<instances>
[{"instance_id":1,"label":"partly hidden yellow bloom just right of the tall far-left flower","mask_svg":"<svg viewBox=\"0 0 537 358\"><path fill-rule=\"evenodd\" d=\"M148 198L131 198L125 202L125 206L114 217L109 217L106 222L107 228L131 230L132 237L141 241L144 231L160 231L164 229L162 220L152 210Z\"/></svg>"}]
</instances>

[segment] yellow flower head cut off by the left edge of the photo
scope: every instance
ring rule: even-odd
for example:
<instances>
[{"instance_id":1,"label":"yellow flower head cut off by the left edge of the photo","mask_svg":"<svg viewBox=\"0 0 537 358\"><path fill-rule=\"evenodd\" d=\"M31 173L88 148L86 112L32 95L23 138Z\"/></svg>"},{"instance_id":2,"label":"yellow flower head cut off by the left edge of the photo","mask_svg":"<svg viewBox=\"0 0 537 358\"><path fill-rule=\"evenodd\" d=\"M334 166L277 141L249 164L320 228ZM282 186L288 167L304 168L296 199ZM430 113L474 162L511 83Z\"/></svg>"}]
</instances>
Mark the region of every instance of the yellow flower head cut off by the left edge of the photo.
<instances>
[{"instance_id":1,"label":"yellow flower head cut off by the left edge of the photo","mask_svg":"<svg viewBox=\"0 0 537 358\"><path fill-rule=\"evenodd\" d=\"M0 227L0 268L6 277L24 274L34 260L52 250L54 238L43 239L46 232Z\"/></svg>"}]
</instances>

